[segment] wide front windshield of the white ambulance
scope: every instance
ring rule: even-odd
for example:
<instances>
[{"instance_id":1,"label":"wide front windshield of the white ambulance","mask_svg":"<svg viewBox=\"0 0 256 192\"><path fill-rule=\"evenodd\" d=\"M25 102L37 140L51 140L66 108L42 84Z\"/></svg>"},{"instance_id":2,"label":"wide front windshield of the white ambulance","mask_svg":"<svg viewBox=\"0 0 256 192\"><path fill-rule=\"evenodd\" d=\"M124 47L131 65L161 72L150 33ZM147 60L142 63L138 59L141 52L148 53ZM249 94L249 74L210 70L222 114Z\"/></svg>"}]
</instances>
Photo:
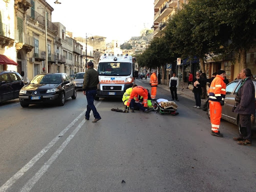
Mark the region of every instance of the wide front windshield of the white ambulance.
<instances>
[{"instance_id":1,"label":"wide front windshield of the white ambulance","mask_svg":"<svg viewBox=\"0 0 256 192\"><path fill-rule=\"evenodd\" d=\"M131 73L129 62L100 62L97 71L99 75L128 76Z\"/></svg>"}]
</instances>

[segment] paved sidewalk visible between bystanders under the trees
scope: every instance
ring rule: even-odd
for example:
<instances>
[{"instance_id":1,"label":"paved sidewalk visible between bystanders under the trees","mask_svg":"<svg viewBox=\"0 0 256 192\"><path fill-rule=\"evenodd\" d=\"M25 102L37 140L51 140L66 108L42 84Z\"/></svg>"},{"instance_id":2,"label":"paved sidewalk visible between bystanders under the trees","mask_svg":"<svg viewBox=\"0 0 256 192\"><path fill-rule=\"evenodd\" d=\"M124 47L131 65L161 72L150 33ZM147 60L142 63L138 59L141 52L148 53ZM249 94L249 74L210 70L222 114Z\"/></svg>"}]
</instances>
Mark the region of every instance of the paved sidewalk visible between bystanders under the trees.
<instances>
[{"instance_id":1,"label":"paved sidewalk visible between bystanders under the trees","mask_svg":"<svg viewBox=\"0 0 256 192\"><path fill-rule=\"evenodd\" d=\"M143 79L143 80L146 80L149 82L150 78ZM157 86L164 88L170 92L168 84L158 84ZM179 87L177 88L177 94L182 95L183 97L186 97L186 98L194 101L194 93L192 92L192 90L190 90L186 87L187 87L187 82L179 82ZM208 97L206 97L205 99L201 98L201 104L203 104L207 99L208 99Z\"/></svg>"}]
</instances>

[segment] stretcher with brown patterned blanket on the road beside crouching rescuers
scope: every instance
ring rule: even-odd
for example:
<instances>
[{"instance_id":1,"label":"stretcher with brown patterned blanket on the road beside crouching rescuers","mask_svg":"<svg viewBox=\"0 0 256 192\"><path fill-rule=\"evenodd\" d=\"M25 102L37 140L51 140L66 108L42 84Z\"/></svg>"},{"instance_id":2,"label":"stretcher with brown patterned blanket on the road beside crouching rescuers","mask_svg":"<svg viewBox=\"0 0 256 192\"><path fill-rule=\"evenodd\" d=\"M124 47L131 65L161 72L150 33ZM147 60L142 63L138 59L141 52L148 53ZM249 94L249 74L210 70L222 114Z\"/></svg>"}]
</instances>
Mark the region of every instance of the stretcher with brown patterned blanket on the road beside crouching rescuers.
<instances>
[{"instance_id":1,"label":"stretcher with brown patterned blanket on the road beside crouching rescuers","mask_svg":"<svg viewBox=\"0 0 256 192\"><path fill-rule=\"evenodd\" d=\"M172 116L177 115L176 112L177 104L174 101L161 101L161 102L154 102L153 109L160 114L170 114Z\"/></svg>"}]
</instances>

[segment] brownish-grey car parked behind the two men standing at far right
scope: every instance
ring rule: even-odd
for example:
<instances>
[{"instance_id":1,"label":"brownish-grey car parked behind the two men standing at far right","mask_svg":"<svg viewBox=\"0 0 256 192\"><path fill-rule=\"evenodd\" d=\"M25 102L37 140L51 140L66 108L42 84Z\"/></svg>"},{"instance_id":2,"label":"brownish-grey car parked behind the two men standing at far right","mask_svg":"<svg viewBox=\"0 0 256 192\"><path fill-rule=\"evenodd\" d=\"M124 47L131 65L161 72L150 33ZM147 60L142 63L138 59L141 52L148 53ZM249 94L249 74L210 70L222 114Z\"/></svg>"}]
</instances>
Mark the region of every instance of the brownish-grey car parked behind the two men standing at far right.
<instances>
[{"instance_id":1,"label":"brownish-grey car parked behind the two men standing at far right","mask_svg":"<svg viewBox=\"0 0 256 192\"><path fill-rule=\"evenodd\" d=\"M224 105L222 106L222 113L221 113L221 118L234 123L236 125L239 125L239 116L237 113L232 112L232 108L234 106L234 98L235 94L238 91L239 85L241 84L242 79L236 79L232 82L229 82L226 85L226 95L225 95L225 100L224 100ZM252 79L252 82L254 84L254 88L256 89L256 79ZM255 97L256 99L256 97ZM256 101L255 101L256 105ZM209 106L208 106L208 117L209 117ZM255 122L255 114L251 114L251 127L256 128L256 122Z\"/></svg>"}]
</instances>

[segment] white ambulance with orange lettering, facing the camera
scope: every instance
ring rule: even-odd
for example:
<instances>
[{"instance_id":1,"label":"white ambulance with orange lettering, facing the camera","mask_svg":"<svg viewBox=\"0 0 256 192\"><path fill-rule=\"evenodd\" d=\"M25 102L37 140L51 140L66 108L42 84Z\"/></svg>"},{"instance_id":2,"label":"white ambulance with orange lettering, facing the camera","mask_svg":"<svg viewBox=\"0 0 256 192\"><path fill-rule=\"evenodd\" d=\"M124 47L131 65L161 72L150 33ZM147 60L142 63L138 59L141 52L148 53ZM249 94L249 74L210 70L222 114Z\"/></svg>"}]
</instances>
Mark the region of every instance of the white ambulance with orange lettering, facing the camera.
<instances>
[{"instance_id":1,"label":"white ambulance with orange lettering, facing the camera","mask_svg":"<svg viewBox=\"0 0 256 192\"><path fill-rule=\"evenodd\" d=\"M122 97L125 90L135 83L138 71L134 70L134 58L128 54L108 53L100 56L97 66L99 83L94 97Z\"/></svg>"}]
</instances>

